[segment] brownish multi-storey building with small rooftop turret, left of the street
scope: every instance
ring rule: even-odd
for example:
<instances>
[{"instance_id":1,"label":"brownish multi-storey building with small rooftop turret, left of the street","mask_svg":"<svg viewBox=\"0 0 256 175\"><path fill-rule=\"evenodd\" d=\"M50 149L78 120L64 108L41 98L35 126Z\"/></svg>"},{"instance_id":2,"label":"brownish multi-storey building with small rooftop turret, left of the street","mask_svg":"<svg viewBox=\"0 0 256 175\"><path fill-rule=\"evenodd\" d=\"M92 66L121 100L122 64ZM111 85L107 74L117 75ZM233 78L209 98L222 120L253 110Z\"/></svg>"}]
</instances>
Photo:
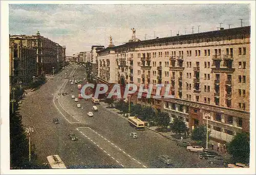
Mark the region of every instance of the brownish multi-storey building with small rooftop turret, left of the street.
<instances>
[{"instance_id":1,"label":"brownish multi-storey building with small rooftop turret, left of the street","mask_svg":"<svg viewBox=\"0 0 256 175\"><path fill-rule=\"evenodd\" d=\"M58 71L62 68L63 62L66 57L66 46L61 46L58 43L51 41L40 35L39 32L36 35L10 35L10 43L29 43L32 48L36 49L36 73L37 76L42 74L50 74L53 69ZM53 68L54 67L54 68Z\"/></svg>"}]
</instances>

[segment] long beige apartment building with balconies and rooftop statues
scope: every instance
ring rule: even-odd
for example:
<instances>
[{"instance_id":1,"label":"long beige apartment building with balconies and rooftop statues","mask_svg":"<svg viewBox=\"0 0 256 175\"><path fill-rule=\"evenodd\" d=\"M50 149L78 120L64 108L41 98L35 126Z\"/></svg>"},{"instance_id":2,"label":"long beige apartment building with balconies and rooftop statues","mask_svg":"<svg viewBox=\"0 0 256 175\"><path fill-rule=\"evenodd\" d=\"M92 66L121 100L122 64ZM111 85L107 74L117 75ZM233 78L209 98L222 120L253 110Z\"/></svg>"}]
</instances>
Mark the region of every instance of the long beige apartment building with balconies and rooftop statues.
<instances>
[{"instance_id":1,"label":"long beige apartment building with balconies and rooftop statues","mask_svg":"<svg viewBox=\"0 0 256 175\"><path fill-rule=\"evenodd\" d=\"M249 132L250 26L127 42L98 53L99 83L162 84L161 98L131 97L182 118L189 129L206 124L211 137L230 141ZM167 86L168 85L168 86ZM165 98L166 87L173 98ZM148 90L150 91L150 90Z\"/></svg>"}]
</instances>

